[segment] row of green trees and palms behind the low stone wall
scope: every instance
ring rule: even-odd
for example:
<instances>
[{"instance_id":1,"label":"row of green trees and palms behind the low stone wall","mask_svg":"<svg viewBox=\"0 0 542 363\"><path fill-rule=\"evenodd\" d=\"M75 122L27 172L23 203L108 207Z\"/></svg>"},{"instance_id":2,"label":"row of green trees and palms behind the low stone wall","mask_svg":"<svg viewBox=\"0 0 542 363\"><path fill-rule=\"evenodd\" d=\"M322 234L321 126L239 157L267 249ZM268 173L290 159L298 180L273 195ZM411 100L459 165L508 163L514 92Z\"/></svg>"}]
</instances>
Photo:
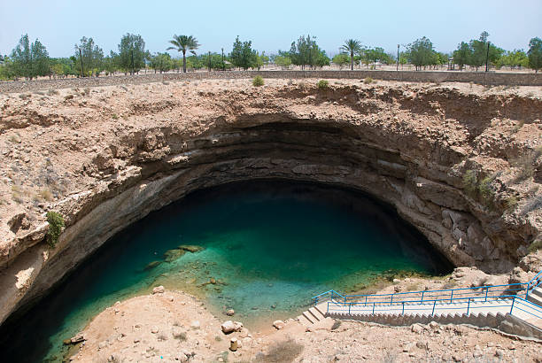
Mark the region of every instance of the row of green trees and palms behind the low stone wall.
<instances>
[{"instance_id":1,"label":"row of green trees and palms behind the low stone wall","mask_svg":"<svg viewBox=\"0 0 542 363\"><path fill-rule=\"evenodd\" d=\"M141 35L123 35L118 44L118 51L110 51L105 55L91 37L83 36L74 45L74 55L69 58L50 58L42 42L30 42L28 35L22 35L18 44L9 56L0 56L0 80L24 78L32 80L38 76L65 78L68 76L99 76L114 73L134 74L142 69L150 69L155 73L171 70L187 72L206 68L209 70L259 69L268 63L274 63L284 69L300 66L301 69L314 69L334 63L343 67L349 65L367 66L374 69L378 64L411 64L416 70L427 69L447 64L453 59L461 71L469 66L492 66L501 68L530 68L538 72L542 68L542 40L535 37L529 42L529 50L503 50L489 40L489 34L483 32L478 38L458 44L456 50L446 54L437 52L427 37L416 39L403 45L399 54L387 53L380 47L363 46L359 40L349 39L340 47L340 52L330 59L311 35L301 35L291 42L290 50L278 50L275 55L267 56L265 52L252 49L252 41L242 41L239 36L233 42L232 50L225 54L207 52L197 55L201 46L192 35L174 35L164 52L151 54L145 50L145 42ZM172 58L167 50L177 50L182 58ZM398 47L399 50L399 47ZM188 57L187 57L188 53ZM399 56L399 58L398 58Z\"/></svg>"}]
</instances>

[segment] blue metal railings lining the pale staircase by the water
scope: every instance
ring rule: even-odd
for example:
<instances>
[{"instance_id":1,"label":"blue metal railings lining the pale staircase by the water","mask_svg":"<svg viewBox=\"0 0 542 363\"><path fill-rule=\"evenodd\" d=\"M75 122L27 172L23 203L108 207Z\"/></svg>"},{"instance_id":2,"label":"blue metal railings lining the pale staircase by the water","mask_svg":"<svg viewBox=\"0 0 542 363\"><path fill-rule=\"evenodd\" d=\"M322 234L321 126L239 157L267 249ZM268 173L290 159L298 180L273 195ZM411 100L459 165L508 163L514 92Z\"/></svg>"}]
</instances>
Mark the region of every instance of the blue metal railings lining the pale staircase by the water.
<instances>
[{"instance_id":1,"label":"blue metal railings lining the pale staircase by the water","mask_svg":"<svg viewBox=\"0 0 542 363\"><path fill-rule=\"evenodd\" d=\"M471 313L480 308L510 308L542 319L542 308L527 300L531 290L542 283L542 271L529 282L473 288L420 290L393 294L342 295L335 290L313 297L314 305L327 301L327 313L401 313L419 311L464 311Z\"/></svg>"}]
</instances>

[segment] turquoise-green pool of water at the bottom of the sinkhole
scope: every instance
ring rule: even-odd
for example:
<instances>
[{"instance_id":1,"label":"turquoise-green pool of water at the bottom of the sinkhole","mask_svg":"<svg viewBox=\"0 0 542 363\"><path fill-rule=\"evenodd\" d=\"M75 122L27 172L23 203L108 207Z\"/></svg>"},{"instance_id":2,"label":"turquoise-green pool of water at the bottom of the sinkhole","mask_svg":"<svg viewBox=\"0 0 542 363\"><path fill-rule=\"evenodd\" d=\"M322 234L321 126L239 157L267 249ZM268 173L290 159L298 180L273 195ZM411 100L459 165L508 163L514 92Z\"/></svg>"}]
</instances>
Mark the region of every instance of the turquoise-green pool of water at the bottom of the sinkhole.
<instances>
[{"instance_id":1,"label":"turquoise-green pool of water at the bottom of the sinkhole","mask_svg":"<svg viewBox=\"0 0 542 363\"><path fill-rule=\"evenodd\" d=\"M450 267L395 212L359 193L232 184L194 193L114 236L15 321L0 349L11 360L61 359L62 340L92 316L160 284L205 299L217 315L233 308L237 320L256 328L296 316L325 290L356 291L383 276Z\"/></svg>"}]
</instances>

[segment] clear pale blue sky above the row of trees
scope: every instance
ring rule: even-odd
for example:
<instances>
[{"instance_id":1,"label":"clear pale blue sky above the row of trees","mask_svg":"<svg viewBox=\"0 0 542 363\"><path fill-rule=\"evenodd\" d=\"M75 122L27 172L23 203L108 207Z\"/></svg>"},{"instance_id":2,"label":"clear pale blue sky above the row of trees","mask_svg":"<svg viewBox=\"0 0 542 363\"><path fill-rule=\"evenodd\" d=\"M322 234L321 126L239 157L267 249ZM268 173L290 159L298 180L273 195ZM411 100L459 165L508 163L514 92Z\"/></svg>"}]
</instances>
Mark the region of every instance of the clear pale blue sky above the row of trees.
<instances>
[{"instance_id":1,"label":"clear pale blue sky above the row of trees","mask_svg":"<svg viewBox=\"0 0 542 363\"><path fill-rule=\"evenodd\" d=\"M451 51L484 30L501 48L526 50L530 38L542 37L541 19L542 0L0 0L0 53L27 33L51 57L72 55L83 35L108 54L128 32L142 35L151 52L166 50L174 34L196 36L200 53L229 52L236 35L275 53L306 34L331 55L347 38L394 52L423 35Z\"/></svg>"}]
</instances>

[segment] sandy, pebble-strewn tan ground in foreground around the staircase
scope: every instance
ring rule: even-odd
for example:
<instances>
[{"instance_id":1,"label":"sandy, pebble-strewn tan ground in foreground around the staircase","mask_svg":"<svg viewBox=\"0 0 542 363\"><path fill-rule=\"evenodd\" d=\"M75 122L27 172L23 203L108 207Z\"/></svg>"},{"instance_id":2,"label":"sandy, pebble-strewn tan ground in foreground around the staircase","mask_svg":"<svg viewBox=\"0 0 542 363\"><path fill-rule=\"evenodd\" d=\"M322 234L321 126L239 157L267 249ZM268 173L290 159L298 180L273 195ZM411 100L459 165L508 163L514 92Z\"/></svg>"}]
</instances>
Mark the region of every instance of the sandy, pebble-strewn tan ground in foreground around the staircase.
<instances>
[{"instance_id":1,"label":"sandy, pebble-strewn tan ground in foreground around the staircase","mask_svg":"<svg viewBox=\"0 0 542 363\"><path fill-rule=\"evenodd\" d=\"M427 280L406 278L387 290L423 286L442 288L480 283L483 272L458 268L450 276ZM492 282L499 282L493 276ZM504 276L502 276L504 278ZM236 316L213 316L205 304L180 291L164 291L118 302L105 309L81 332L85 341L73 345L77 362L96 361L540 361L540 342L520 340L491 329L414 324L386 327L328 318L311 328L290 319L284 328L251 332L246 328L224 334L221 324ZM240 345L229 350L236 338Z\"/></svg>"}]
</instances>

